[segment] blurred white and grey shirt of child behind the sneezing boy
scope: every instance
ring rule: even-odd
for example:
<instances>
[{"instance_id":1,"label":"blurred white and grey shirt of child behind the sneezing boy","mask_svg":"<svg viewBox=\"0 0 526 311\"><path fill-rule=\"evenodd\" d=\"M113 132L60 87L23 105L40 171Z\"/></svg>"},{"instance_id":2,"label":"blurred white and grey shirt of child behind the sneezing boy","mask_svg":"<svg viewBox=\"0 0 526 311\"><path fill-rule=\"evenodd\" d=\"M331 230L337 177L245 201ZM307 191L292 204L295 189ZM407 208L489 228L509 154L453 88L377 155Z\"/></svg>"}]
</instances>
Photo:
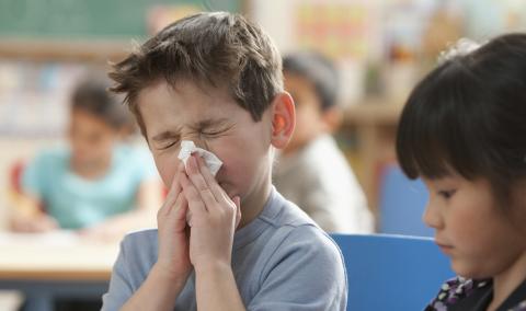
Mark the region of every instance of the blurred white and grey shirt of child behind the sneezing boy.
<instances>
[{"instance_id":1,"label":"blurred white and grey shirt of child behind the sneezing boy","mask_svg":"<svg viewBox=\"0 0 526 311\"><path fill-rule=\"evenodd\" d=\"M330 135L290 156L281 154L273 183L331 233L370 233L373 215L346 159Z\"/></svg>"}]
</instances>

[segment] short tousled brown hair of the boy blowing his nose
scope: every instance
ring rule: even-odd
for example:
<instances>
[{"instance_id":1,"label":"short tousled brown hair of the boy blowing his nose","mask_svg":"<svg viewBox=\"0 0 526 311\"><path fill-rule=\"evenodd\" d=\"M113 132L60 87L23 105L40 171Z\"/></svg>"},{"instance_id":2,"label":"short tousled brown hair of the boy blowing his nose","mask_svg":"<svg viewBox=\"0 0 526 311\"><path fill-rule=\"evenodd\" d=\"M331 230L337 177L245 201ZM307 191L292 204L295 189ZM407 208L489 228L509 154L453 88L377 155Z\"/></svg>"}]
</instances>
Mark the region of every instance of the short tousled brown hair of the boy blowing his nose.
<instances>
[{"instance_id":1,"label":"short tousled brown hair of the boy blowing his nose","mask_svg":"<svg viewBox=\"0 0 526 311\"><path fill-rule=\"evenodd\" d=\"M282 60L271 38L239 14L198 13L179 20L113 65L113 92L125 102L147 138L137 96L160 81L227 87L238 105L259 122L283 91Z\"/></svg>"}]
</instances>

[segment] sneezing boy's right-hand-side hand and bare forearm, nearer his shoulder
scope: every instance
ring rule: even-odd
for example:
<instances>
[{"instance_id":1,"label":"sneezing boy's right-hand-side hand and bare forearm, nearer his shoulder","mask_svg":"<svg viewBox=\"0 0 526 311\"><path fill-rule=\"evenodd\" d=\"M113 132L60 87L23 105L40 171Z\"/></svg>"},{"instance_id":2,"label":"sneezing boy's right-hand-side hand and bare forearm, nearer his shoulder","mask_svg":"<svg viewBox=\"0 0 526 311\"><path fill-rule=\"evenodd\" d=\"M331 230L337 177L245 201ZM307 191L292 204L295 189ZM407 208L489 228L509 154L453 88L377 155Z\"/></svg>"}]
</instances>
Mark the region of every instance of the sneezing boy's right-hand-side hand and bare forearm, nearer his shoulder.
<instances>
[{"instance_id":1,"label":"sneezing boy's right-hand-side hand and bare forearm, nearer his shoulder","mask_svg":"<svg viewBox=\"0 0 526 311\"><path fill-rule=\"evenodd\" d=\"M195 154L188 159L187 174L181 185L192 214L190 256L195 268L197 308L245 310L231 268L240 198L230 199Z\"/></svg>"}]
</instances>

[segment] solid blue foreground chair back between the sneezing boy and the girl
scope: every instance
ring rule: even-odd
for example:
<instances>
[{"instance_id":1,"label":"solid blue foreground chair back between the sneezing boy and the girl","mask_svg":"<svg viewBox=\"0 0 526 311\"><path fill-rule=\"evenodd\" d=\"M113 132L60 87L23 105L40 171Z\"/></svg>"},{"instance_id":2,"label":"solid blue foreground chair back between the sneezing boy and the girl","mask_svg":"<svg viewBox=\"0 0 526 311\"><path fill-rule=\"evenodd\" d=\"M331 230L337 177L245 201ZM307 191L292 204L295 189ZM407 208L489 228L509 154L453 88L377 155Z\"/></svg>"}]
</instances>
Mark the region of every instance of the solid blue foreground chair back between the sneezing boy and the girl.
<instances>
[{"instance_id":1,"label":"solid blue foreground chair back between the sneezing boy and the girl","mask_svg":"<svg viewBox=\"0 0 526 311\"><path fill-rule=\"evenodd\" d=\"M455 276L430 238L331 234L347 270L347 310L423 310Z\"/></svg>"}]
</instances>

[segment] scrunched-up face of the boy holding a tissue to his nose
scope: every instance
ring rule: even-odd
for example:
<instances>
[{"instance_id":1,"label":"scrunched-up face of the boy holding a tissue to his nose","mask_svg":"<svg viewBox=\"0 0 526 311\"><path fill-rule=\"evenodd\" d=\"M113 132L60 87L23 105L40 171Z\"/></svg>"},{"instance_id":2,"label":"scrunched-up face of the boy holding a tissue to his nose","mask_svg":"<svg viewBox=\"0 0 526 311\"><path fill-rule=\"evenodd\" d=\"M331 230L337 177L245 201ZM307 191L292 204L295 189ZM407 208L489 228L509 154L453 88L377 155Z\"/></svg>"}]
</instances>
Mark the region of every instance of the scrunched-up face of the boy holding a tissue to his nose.
<instances>
[{"instance_id":1,"label":"scrunched-up face of the boy holding a tissue to his nose","mask_svg":"<svg viewBox=\"0 0 526 311\"><path fill-rule=\"evenodd\" d=\"M192 140L222 161L216 180L230 197L239 195L243 201L268 183L270 110L255 123L226 88L198 88L187 81L176 88L165 82L149 87L139 93L138 105L157 169L168 187L180 162L181 140Z\"/></svg>"}]
</instances>

